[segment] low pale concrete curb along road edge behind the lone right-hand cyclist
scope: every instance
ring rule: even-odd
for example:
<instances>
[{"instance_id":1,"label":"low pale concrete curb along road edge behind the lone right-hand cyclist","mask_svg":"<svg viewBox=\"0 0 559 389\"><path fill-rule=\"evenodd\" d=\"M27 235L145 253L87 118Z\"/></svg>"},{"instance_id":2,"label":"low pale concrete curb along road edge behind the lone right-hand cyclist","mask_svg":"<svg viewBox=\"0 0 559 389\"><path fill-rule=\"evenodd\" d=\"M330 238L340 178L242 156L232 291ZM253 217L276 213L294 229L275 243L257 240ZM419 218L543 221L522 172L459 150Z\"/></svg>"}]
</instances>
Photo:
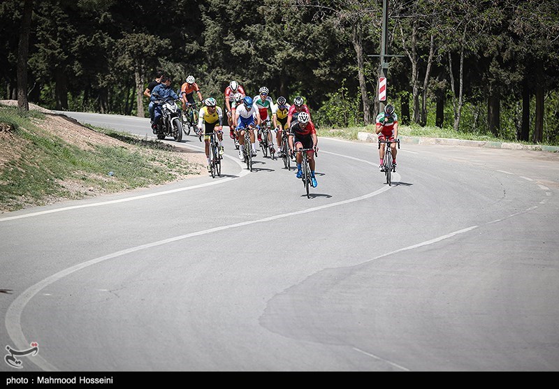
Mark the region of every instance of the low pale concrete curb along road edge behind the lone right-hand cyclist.
<instances>
[{"instance_id":1,"label":"low pale concrete curb along road edge behind the lone right-hand cyclist","mask_svg":"<svg viewBox=\"0 0 559 389\"><path fill-rule=\"evenodd\" d=\"M445 145L445 146L466 146L466 147L488 147L492 149L509 149L509 150L532 150L542 152L559 152L558 146L546 145L523 145L521 143L511 142L490 142L486 140L463 140L450 138L421 138L419 136L400 136L403 143L411 143L414 145ZM358 132L357 140L361 142L377 142L377 134Z\"/></svg>"}]
</instances>

